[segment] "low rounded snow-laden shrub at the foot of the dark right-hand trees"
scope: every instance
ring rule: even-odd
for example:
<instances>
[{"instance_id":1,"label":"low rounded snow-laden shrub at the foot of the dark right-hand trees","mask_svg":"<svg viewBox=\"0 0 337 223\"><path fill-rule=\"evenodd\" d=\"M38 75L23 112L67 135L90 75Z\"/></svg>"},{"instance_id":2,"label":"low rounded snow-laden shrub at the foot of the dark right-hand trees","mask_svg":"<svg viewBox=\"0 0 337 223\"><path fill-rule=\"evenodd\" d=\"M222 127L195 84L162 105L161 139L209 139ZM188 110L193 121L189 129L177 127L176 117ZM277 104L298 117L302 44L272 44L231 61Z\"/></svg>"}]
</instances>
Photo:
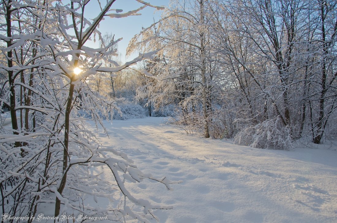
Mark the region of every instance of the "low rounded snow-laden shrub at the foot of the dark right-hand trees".
<instances>
[{"instance_id":1,"label":"low rounded snow-laden shrub at the foot of the dark right-hand trees","mask_svg":"<svg viewBox=\"0 0 337 223\"><path fill-rule=\"evenodd\" d=\"M245 128L235 136L234 143L262 149L293 148L290 129L282 124L280 117Z\"/></svg>"}]
</instances>

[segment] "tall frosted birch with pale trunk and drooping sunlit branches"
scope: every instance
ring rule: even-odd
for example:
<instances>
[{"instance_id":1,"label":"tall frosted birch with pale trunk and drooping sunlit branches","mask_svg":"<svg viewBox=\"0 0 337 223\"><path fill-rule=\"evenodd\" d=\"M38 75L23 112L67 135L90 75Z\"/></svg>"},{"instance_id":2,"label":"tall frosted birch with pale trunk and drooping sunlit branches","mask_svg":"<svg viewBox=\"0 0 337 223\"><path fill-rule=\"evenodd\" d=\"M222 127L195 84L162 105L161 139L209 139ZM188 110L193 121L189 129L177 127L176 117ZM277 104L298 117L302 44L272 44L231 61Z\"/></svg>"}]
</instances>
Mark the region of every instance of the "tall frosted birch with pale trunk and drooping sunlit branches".
<instances>
[{"instance_id":1,"label":"tall frosted birch with pale trunk and drooping sunlit branches","mask_svg":"<svg viewBox=\"0 0 337 223\"><path fill-rule=\"evenodd\" d=\"M213 47L211 1L173 1L153 29L144 30L142 46L163 50L152 70L162 70L151 100L157 104L175 103L181 108L182 122L195 124L209 138L212 102L215 96L218 66ZM134 44L136 45L136 44ZM158 106L158 105L156 105ZM187 117L190 116L190 117ZM193 116L193 117L192 117Z\"/></svg>"}]
</instances>

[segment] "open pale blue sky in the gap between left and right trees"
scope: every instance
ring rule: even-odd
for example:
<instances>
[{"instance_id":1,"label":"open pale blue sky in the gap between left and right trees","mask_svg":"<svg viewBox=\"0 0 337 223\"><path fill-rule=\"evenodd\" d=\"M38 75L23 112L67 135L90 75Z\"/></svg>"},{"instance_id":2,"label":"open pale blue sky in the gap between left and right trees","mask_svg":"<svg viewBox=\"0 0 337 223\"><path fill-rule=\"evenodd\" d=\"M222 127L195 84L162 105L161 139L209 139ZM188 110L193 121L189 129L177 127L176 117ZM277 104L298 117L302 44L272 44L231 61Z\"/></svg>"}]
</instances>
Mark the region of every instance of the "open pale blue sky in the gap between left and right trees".
<instances>
[{"instance_id":1,"label":"open pale blue sky in the gap between left and right trees","mask_svg":"<svg viewBox=\"0 0 337 223\"><path fill-rule=\"evenodd\" d=\"M149 2L152 5L156 6L168 6L170 0L144 0L145 2ZM90 6L92 10L89 10L89 13L85 16L88 18L94 18L99 13L99 8L97 7L97 1L93 1L95 5ZM123 12L126 13L130 10L137 9L141 7L143 4L137 2L136 0L117 0L113 5L113 9L123 9ZM88 10L88 9L87 9ZM115 12L111 12L115 13ZM146 28L150 26L153 21L158 21L160 18L161 11L156 10L152 7L145 7L143 10L140 11L142 15L136 16L128 16L125 18L110 18L106 17L104 21L100 23L98 30L104 35L104 33L112 33L115 34L115 39L123 38L118 43L119 52L122 54L121 60L122 62L132 60L133 57L137 56L133 55L130 58L125 58L126 48L128 46L129 41L131 38L139 33L142 30L142 27ZM96 40L90 41L88 46L91 47L99 47L99 41Z\"/></svg>"}]
</instances>

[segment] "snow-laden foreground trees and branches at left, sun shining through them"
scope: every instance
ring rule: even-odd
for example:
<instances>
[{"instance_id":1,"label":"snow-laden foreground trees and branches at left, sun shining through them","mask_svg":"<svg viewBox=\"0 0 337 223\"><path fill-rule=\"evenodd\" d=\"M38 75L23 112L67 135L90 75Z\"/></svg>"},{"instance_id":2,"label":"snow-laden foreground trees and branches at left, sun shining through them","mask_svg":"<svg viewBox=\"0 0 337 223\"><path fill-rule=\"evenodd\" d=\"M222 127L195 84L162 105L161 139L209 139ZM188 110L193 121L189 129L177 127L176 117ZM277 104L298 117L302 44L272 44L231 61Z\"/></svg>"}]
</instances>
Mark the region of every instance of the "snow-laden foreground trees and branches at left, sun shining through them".
<instances>
[{"instance_id":1,"label":"snow-laden foreground trees and branches at left, sun shining through them","mask_svg":"<svg viewBox=\"0 0 337 223\"><path fill-rule=\"evenodd\" d=\"M3 214L34 216L53 207L55 216L81 212L112 221L149 222L156 218L153 209L170 208L133 197L125 181L148 178L167 188L174 182L143 174L126 154L100 147L80 113L91 115L97 126L102 125L101 114L111 118L118 108L87 80L97 73L116 73L153 54L141 54L120 65L110 58L117 41L97 49L85 45L90 38L102 40L97 27L104 17L119 19L156 7L139 1L140 8L122 13L112 9L114 2L1 2L6 20L1 25L1 52L6 65L0 69L6 79L1 82L0 95L11 115L11 127L3 126L1 133L6 134L0 135ZM100 12L89 20L87 10L94 6ZM113 182L101 176L106 171L114 176ZM106 208L91 202L106 198L110 202Z\"/></svg>"}]
</instances>

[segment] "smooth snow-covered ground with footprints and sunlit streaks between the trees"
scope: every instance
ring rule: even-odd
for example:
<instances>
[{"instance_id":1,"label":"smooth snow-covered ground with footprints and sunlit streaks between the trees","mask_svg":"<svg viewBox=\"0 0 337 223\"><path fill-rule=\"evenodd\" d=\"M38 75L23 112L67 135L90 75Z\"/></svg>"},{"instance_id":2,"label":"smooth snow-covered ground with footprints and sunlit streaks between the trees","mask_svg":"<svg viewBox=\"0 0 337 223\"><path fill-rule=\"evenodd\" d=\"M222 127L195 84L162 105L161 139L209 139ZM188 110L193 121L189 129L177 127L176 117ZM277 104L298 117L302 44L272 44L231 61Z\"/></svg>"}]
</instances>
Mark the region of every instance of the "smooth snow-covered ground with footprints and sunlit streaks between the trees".
<instances>
[{"instance_id":1,"label":"smooth snow-covered ground with footprints and sunlit streaks between the trees","mask_svg":"<svg viewBox=\"0 0 337 223\"><path fill-rule=\"evenodd\" d=\"M105 123L103 146L128 154L144 173L183 180L173 191L143 181L137 198L173 205L157 210L166 223L337 222L337 151L264 150L182 134L163 118ZM320 146L323 147L323 146Z\"/></svg>"}]
</instances>

